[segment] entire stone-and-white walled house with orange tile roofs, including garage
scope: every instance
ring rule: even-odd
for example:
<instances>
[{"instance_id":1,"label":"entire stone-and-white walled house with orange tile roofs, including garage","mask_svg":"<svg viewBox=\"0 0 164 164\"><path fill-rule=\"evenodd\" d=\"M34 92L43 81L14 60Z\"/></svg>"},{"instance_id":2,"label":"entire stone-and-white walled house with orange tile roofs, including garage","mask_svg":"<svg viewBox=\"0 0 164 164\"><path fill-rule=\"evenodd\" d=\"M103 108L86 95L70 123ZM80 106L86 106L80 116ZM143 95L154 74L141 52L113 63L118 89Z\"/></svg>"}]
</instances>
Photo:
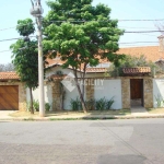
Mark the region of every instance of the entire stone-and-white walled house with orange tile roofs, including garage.
<instances>
[{"instance_id":1,"label":"entire stone-and-white walled house with orange tile roofs, including garage","mask_svg":"<svg viewBox=\"0 0 164 164\"><path fill-rule=\"evenodd\" d=\"M159 46L120 48L118 54L138 57L144 55L148 60L153 62L161 61L164 57L164 52L160 51ZM63 101L63 109L70 109L70 101L75 99L79 94L72 83L69 84L71 91L66 86L61 87L61 81L67 77L67 80L71 78L72 69L62 69L63 61L59 58L48 59L47 61L49 65L47 66L44 86L45 102L51 104L51 109L60 110ZM164 80L162 78L156 79L148 75L149 70L144 68L140 73L136 73L131 69L130 73L127 71L126 77L107 78L104 77L104 73L109 65L109 62L103 60L97 67L87 67L85 99L103 97L110 99L114 97L113 108L120 109L130 108L132 99L138 99L139 104L144 107L155 107L157 103L155 97L164 98ZM33 91L34 99L38 99L38 89ZM30 92L24 89L19 77L14 72L1 72L0 109L25 110L26 101L30 101Z\"/></svg>"}]
</instances>

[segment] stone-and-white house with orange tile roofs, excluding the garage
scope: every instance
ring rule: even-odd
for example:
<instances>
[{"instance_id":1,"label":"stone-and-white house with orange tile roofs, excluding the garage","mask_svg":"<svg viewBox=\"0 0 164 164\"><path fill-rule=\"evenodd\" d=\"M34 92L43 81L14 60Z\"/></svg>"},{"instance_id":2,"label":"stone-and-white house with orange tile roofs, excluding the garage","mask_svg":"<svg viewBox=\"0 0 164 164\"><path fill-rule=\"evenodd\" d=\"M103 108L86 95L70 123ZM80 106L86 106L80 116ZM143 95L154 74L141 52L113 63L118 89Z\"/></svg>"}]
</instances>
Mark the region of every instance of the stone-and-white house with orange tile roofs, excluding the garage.
<instances>
[{"instance_id":1,"label":"stone-and-white house with orange tile roofs, excluding the garage","mask_svg":"<svg viewBox=\"0 0 164 164\"><path fill-rule=\"evenodd\" d=\"M144 55L148 60L153 62L162 60L164 52L160 51L159 46L147 46L147 47L130 47L120 48L118 54L126 54L139 57ZM46 72L45 82L45 101L51 104L52 109L60 110L61 106L61 89L60 82L67 78L70 73L72 74L72 69L62 69L62 63L59 58L48 59L48 70ZM86 83L85 83L85 99L99 99L106 97L110 99L114 97L113 108L130 108L132 99L139 101L139 104L144 107L155 107L155 97L160 94L164 97L161 92L162 89L159 86L163 85L162 79L155 79L148 73L149 68L142 68L142 71L138 70L136 74L134 70L127 73L126 77L115 77L107 78L104 77L109 62L102 61L97 67L87 67L86 69ZM79 70L80 71L80 70ZM126 72L125 72L126 73ZM70 109L70 101L75 99L79 96L77 89L69 91L65 86L65 99L63 108ZM37 99L38 90L34 92L34 97ZM27 97L30 99L30 97Z\"/></svg>"}]
</instances>

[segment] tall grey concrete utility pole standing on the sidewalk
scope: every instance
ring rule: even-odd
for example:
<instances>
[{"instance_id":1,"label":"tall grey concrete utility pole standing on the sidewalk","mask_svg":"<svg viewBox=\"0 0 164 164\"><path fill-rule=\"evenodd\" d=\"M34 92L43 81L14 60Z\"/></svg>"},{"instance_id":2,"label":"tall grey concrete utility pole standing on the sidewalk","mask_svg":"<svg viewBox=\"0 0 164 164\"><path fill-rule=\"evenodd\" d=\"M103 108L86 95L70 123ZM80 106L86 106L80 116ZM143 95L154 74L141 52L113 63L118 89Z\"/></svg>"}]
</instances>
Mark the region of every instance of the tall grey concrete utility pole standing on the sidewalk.
<instances>
[{"instance_id":1,"label":"tall grey concrete utility pole standing on the sidewalk","mask_svg":"<svg viewBox=\"0 0 164 164\"><path fill-rule=\"evenodd\" d=\"M42 34L42 14L44 12L40 0L31 0L31 14L36 17L37 40L38 40L38 89L39 89L39 116L45 116L45 95L44 95L44 60L43 60L43 34Z\"/></svg>"}]
</instances>

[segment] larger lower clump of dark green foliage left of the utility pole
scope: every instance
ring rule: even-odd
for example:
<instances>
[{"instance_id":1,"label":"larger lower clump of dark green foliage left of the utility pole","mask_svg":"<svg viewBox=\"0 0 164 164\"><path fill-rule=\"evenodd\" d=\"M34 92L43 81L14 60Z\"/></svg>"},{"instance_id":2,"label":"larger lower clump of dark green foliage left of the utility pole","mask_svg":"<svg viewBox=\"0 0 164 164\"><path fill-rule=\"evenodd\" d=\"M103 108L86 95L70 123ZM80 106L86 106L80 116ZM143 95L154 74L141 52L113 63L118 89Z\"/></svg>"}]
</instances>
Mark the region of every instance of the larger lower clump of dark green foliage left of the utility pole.
<instances>
[{"instance_id":1,"label":"larger lower clump of dark green foliage left of the utility pole","mask_svg":"<svg viewBox=\"0 0 164 164\"><path fill-rule=\"evenodd\" d=\"M15 44L11 45L13 52L12 63L15 67L21 81L25 83L26 87L36 89L38 85L38 56L35 40L25 43L19 39ZM25 47L25 49L22 49Z\"/></svg>"}]
</instances>

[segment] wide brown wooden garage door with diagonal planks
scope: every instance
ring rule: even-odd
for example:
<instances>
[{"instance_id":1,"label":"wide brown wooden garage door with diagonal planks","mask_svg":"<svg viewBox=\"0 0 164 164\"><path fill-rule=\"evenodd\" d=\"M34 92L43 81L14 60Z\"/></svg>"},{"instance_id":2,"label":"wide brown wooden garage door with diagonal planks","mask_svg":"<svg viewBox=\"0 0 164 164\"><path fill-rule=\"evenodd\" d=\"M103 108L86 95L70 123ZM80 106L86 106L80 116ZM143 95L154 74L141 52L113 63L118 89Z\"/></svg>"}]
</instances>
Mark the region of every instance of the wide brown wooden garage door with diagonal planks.
<instances>
[{"instance_id":1,"label":"wide brown wooden garage door with diagonal planks","mask_svg":"<svg viewBox=\"0 0 164 164\"><path fill-rule=\"evenodd\" d=\"M19 86L3 85L0 86L0 110L19 109Z\"/></svg>"}]
</instances>

